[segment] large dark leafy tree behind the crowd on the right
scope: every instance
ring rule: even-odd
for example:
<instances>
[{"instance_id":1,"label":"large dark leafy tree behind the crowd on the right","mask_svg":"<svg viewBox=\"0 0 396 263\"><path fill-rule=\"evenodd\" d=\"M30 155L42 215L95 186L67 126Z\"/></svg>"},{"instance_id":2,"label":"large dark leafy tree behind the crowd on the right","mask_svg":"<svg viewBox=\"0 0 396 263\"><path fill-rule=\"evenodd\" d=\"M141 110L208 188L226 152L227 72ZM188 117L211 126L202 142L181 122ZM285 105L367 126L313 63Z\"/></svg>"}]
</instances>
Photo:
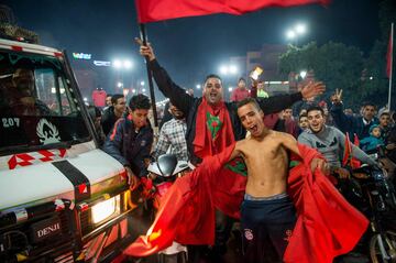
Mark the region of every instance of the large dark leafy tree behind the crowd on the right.
<instances>
[{"instance_id":1,"label":"large dark leafy tree behind the crowd on the right","mask_svg":"<svg viewBox=\"0 0 396 263\"><path fill-rule=\"evenodd\" d=\"M354 46L329 42L320 47L315 42L301 48L289 46L280 55L279 70L287 76L289 72L312 69L315 78L327 86L326 99L337 88L344 90L344 101L356 106L365 96L360 92L360 77L364 67L362 52Z\"/></svg>"}]
</instances>

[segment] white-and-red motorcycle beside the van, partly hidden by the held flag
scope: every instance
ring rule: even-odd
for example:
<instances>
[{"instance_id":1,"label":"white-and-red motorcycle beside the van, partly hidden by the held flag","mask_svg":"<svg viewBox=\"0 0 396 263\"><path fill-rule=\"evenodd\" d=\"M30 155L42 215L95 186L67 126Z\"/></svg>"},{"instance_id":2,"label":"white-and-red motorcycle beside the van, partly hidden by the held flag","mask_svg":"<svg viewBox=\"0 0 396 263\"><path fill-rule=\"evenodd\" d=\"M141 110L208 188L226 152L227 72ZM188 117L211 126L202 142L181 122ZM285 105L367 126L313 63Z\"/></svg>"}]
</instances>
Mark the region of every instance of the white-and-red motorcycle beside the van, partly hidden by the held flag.
<instances>
[{"instance_id":1,"label":"white-and-red motorcycle beside the van, partly hidden by the held flag","mask_svg":"<svg viewBox=\"0 0 396 263\"><path fill-rule=\"evenodd\" d=\"M148 165L148 179L143 183L146 189L146 197L153 201L153 217L161 206L161 199L168 191L173 183L186 172L190 166L186 161L177 161L174 154L163 154L156 162ZM187 262L187 246L177 242L165 250L158 252L160 263L185 263Z\"/></svg>"}]
</instances>

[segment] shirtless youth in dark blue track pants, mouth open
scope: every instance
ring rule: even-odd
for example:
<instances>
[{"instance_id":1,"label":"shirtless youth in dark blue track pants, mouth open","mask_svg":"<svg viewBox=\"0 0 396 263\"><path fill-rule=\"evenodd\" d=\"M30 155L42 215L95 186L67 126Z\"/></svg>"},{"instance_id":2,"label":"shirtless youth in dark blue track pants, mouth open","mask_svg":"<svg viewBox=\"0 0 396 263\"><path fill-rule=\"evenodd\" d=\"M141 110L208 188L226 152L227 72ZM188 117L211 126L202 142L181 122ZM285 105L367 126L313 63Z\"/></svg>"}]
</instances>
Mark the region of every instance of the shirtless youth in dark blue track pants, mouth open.
<instances>
[{"instance_id":1,"label":"shirtless youth in dark blue track pants, mouth open","mask_svg":"<svg viewBox=\"0 0 396 263\"><path fill-rule=\"evenodd\" d=\"M268 130L257 102L244 99L238 116L251 136L237 142L231 160L241 156L248 166L248 184L241 206L245 262L282 262L296 223L295 207L286 194L288 151L299 154L296 139ZM311 168L324 169L316 160Z\"/></svg>"}]
</instances>

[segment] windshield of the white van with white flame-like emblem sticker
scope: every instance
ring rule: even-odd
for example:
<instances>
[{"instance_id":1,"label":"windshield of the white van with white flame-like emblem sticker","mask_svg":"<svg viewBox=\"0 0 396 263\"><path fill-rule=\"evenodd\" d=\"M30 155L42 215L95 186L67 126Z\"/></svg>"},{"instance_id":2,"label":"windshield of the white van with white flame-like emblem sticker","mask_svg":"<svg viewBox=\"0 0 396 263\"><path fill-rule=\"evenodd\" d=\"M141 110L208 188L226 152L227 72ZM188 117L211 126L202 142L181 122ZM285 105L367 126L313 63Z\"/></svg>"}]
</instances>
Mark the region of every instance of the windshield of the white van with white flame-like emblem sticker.
<instances>
[{"instance_id":1,"label":"windshield of the white van with white flame-like emblem sticker","mask_svg":"<svg viewBox=\"0 0 396 263\"><path fill-rule=\"evenodd\" d=\"M0 155L90 139L62 59L0 51Z\"/></svg>"}]
</instances>

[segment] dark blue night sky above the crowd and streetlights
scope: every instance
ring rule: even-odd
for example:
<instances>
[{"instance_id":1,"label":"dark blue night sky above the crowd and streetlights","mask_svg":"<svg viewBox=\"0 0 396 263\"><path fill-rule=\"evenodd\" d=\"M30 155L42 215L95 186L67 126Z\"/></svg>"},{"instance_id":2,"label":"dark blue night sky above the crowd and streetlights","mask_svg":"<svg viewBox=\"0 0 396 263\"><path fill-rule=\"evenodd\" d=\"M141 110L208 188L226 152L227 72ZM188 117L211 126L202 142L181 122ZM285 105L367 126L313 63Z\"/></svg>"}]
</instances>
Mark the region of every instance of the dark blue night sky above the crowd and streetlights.
<instances>
[{"instance_id":1,"label":"dark blue night sky above the crowd and streetlights","mask_svg":"<svg viewBox=\"0 0 396 263\"><path fill-rule=\"evenodd\" d=\"M91 53L95 59L129 57L134 79L144 79L143 59L133 39L139 26L133 0L0 0L10 7L22 28L35 31L41 44ZM330 6L268 8L234 17L215 14L156 22L147 25L160 63L174 80L195 87L205 75L218 73L230 56L243 56L264 43L286 44L285 32L296 22L308 25L299 44L342 42L369 54L380 39L378 2L333 0ZM74 62L75 67L88 63ZM111 68L107 74L111 73ZM106 76L106 74L103 75ZM191 83L194 81L194 83ZM105 84L107 85L107 84ZM105 87L106 89L106 87Z\"/></svg>"}]
</instances>

